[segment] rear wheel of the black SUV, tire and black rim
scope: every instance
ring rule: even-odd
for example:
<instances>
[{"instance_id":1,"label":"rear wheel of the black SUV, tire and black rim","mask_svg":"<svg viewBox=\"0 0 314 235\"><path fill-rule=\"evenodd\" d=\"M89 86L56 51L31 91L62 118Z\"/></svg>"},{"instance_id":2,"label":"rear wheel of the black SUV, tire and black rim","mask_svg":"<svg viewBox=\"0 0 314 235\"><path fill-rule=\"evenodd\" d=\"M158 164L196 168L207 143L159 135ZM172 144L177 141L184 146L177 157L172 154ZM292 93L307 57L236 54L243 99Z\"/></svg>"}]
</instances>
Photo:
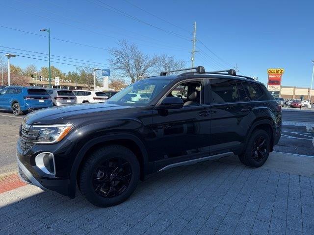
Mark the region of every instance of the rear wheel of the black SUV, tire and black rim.
<instances>
[{"instance_id":1,"label":"rear wheel of the black SUV, tire and black rim","mask_svg":"<svg viewBox=\"0 0 314 235\"><path fill-rule=\"evenodd\" d=\"M267 132L257 129L251 134L244 153L238 156L239 160L247 166L260 167L269 156L270 146L270 137Z\"/></svg>"}]
</instances>

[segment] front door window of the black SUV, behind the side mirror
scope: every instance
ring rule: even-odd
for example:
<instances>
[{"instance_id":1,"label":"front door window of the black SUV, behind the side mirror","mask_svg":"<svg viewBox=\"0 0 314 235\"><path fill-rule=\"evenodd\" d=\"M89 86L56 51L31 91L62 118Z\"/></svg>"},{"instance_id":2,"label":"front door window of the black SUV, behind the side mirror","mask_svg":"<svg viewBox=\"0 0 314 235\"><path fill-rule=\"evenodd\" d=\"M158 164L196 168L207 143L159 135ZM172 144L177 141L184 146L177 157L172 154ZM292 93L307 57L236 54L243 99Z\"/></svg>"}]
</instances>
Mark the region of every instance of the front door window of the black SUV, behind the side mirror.
<instances>
[{"instance_id":1,"label":"front door window of the black SUV, behind the side mirror","mask_svg":"<svg viewBox=\"0 0 314 235\"><path fill-rule=\"evenodd\" d=\"M202 100L201 82L187 82L175 87L167 96L177 96L184 102L183 106L200 105Z\"/></svg>"}]
</instances>

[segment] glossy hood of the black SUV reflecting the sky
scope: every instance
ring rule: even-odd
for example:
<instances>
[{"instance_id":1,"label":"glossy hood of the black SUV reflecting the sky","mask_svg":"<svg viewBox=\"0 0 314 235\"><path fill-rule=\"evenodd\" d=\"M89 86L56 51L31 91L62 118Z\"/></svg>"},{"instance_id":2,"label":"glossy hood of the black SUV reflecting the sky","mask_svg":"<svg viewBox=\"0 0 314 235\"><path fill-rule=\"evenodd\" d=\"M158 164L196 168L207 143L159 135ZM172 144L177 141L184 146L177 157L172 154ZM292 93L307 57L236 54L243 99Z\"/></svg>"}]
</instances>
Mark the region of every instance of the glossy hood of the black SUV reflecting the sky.
<instances>
[{"instance_id":1,"label":"glossy hood of the black SUV reflecting the sky","mask_svg":"<svg viewBox=\"0 0 314 235\"><path fill-rule=\"evenodd\" d=\"M29 125L34 124L63 124L76 119L94 118L103 115L123 113L126 109L136 107L95 103L95 104L77 104L63 107L52 107L32 112L24 118Z\"/></svg>"}]
</instances>

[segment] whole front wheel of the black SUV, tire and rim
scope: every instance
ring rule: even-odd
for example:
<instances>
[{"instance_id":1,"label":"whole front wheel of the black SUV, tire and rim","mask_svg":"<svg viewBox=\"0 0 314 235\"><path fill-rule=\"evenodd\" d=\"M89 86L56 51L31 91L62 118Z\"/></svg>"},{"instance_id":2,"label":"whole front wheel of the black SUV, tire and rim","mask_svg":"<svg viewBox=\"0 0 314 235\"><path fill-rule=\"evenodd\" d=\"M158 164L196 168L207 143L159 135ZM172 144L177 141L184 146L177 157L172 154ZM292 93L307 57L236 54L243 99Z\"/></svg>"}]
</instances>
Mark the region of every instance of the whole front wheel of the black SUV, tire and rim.
<instances>
[{"instance_id":1,"label":"whole front wheel of the black SUV, tire and rim","mask_svg":"<svg viewBox=\"0 0 314 235\"><path fill-rule=\"evenodd\" d=\"M84 161L78 176L78 188L90 203L110 207L130 197L139 175L139 162L130 149L108 145L97 149Z\"/></svg>"}]
</instances>

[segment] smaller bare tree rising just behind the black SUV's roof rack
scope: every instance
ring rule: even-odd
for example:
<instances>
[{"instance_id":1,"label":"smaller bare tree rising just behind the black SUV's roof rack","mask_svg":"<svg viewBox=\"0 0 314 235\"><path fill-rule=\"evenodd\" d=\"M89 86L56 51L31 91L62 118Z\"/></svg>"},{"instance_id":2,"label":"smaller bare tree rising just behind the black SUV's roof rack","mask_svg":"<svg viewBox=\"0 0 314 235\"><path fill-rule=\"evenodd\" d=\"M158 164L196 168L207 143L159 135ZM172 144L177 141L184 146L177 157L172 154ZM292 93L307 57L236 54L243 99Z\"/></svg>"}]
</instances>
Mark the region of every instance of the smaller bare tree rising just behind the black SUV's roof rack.
<instances>
[{"instance_id":1,"label":"smaller bare tree rising just behind the black SUV's roof rack","mask_svg":"<svg viewBox=\"0 0 314 235\"><path fill-rule=\"evenodd\" d=\"M181 70L185 67L184 60L178 60L173 55L157 55L157 64L154 66L156 73L161 71ZM176 74L175 72L173 74Z\"/></svg>"}]
</instances>

